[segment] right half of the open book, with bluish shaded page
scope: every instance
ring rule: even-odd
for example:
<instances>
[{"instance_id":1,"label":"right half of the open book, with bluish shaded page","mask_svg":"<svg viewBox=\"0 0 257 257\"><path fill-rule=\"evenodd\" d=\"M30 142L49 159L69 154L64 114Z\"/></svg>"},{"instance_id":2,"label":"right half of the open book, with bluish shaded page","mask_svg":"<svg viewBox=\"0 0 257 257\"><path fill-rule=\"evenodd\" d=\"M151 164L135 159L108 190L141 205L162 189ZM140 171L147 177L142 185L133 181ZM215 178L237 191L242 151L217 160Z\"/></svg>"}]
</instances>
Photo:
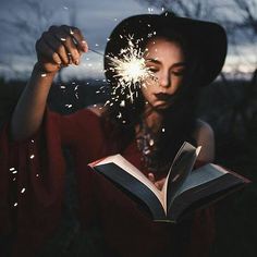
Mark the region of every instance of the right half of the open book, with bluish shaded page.
<instances>
[{"instance_id":1,"label":"right half of the open book, with bluish shaded page","mask_svg":"<svg viewBox=\"0 0 257 257\"><path fill-rule=\"evenodd\" d=\"M209 163L191 172L168 211L171 219L193 213L194 210L223 198L247 182L236 173Z\"/></svg>"}]
</instances>

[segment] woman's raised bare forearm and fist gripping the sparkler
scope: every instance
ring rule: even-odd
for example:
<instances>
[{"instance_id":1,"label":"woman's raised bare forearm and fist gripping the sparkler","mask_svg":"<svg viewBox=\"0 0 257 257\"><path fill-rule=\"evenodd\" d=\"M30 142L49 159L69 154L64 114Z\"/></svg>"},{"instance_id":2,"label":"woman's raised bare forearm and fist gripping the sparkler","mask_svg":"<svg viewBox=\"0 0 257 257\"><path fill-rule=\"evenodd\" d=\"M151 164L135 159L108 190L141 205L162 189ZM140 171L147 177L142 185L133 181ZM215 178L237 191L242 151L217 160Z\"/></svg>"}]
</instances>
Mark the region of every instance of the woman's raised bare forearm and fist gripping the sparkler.
<instances>
[{"instance_id":1,"label":"woman's raised bare forearm and fist gripping the sparkler","mask_svg":"<svg viewBox=\"0 0 257 257\"><path fill-rule=\"evenodd\" d=\"M78 65L87 50L87 42L76 27L51 26L42 33L36 42L37 63L12 115L13 140L26 139L38 130L56 74L63 66Z\"/></svg>"}]
</instances>

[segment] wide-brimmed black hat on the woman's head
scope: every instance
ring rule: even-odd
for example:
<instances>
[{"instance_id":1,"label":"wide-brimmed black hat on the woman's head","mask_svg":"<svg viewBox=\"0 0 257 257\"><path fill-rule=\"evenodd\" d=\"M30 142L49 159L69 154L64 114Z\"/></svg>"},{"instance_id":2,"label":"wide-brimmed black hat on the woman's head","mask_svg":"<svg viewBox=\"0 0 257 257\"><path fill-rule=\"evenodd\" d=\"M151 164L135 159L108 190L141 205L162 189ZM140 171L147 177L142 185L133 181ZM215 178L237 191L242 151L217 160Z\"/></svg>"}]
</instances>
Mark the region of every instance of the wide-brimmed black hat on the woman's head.
<instances>
[{"instance_id":1,"label":"wide-brimmed black hat on the woman's head","mask_svg":"<svg viewBox=\"0 0 257 257\"><path fill-rule=\"evenodd\" d=\"M228 48L224 28L212 22L179 17L170 12L130 16L118 24L109 37L105 52L107 79L113 82L113 72L107 57L119 57L120 50L127 47L125 36L133 35L135 40L148 40L151 36L158 36L158 32L163 28L183 35L191 49L197 52L199 63L204 68L197 79L198 85L210 84L224 64Z\"/></svg>"}]
</instances>

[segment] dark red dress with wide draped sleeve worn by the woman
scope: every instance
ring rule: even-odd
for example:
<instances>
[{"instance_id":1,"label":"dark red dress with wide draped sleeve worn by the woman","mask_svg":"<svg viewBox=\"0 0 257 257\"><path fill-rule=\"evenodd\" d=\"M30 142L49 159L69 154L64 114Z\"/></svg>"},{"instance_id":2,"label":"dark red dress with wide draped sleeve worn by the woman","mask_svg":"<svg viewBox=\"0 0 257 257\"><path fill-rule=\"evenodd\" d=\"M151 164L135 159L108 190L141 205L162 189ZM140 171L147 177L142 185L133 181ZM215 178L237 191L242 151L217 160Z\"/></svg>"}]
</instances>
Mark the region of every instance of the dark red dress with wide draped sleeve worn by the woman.
<instances>
[{"instance_id":1,"label":"dark red dress with wide draped sleeve worn by the woman","mask_svg":"<svg viewBox=\"0 0 257 257\"><path fill-rule=\"evenodd\" d=\"M194 222L156 223L125 194L89 170L88 162L117 154L115 144L106 142L108 132L91 111L66 117L47 112L41 131L24 143L9 143L7 133L8 127L0 140L0 232L14 236L13 256L34 256L58 225L63 197L62 144L71 147L75 159L81 222L85 229L101 228L111 256L208 256L213 228L209 209L199 211ZM142 168L135 143L122 155Z\"/></svg>"}]
</instances>

